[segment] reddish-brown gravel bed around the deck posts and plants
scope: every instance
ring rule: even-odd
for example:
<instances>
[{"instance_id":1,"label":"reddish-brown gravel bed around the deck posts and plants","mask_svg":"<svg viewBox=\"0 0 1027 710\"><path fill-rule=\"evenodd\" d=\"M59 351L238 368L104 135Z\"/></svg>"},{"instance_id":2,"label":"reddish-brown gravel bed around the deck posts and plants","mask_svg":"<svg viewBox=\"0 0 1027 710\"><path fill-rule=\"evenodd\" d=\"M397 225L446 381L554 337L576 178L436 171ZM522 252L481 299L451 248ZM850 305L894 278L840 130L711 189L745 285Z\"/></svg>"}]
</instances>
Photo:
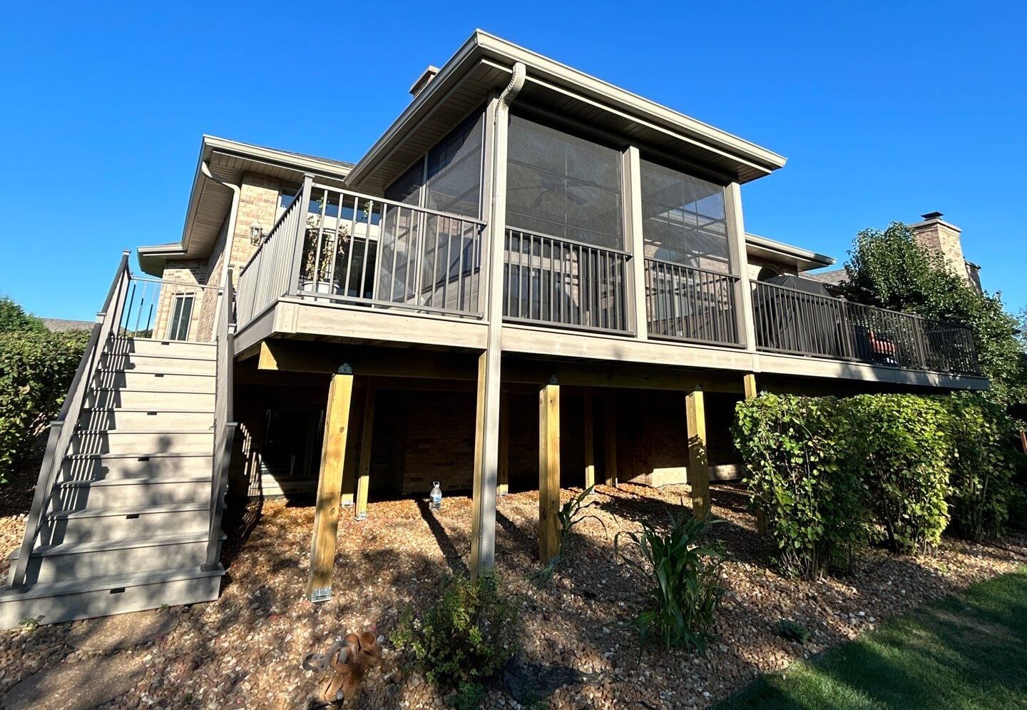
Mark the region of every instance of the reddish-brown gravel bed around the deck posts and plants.
<instances>
[{"instance_id":1,"label":"reddish-brown gravel bed around the deck posts and plants","mask_svg":"<svg viewBox=\"0 0 1027 710\"><path fill-rule=\"evenodd\" d=\"M574 492L563 492L566 498ZM523 656L595 674L591 685L566 686L554 708L701 708L731 695L761 672L785 668L872 629L881 620L1027 562L1027 538L996 546L946 539L917 558L872 552L852 574L824 582L783 578L766 562L766 540L745 511L744 492L714 486L713 534L731 554L717 638L706 656L640 647L631 619L646 601L640 581L616 564L613 534L642 519L688 507L684 487L600 486L566 562L539 588L535 492L514 493L497 505L497 565L523 607ZM2 506L2 503L0 503ZM24 515L0 507L0 540L9 551L21 538ZM24 511L24 509L23 509ZM372 503L369 519L344 515L339 526L334 597L304 599L313 525L309 501L253 501L228 522L221 598L179 611L164 638L130 651L142 656L144 679L106 708L307 708L317 679L300 667L349 631L388 636L403 606L426 603L441 580L466 569L470 500L448 496L442 511L411 499ZM775 633L783 619L813 631L805 645ZM0 632L0 694L20 679L90 657L67 643L75 624L31 633ZM491 688L488 708L514 708ZM349 707L444 708L446 699L410 668L386 641L384 663Z\"/></svg>"}]
</instances>

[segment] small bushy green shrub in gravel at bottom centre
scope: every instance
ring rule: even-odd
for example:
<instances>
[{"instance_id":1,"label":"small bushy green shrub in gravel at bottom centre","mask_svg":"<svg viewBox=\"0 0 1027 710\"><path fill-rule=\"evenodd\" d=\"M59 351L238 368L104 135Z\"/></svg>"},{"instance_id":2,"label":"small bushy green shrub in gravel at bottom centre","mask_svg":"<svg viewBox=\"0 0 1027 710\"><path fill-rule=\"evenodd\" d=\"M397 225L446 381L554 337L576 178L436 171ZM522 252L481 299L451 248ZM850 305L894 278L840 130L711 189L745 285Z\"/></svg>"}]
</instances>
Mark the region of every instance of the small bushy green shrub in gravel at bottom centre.
<instances>
[{"instance_id":1,"label":"small bushy green shrub in gravel at bottom centre","mask_svg":"<svg viewBox=\"0 0 1027 710\"><path fill-rule=\"evenodd\" d=\"M417 615L407 608L392 642L409 649L432 683L460 687L499 672L517 650L518 609L494 574L453 576L442 595Z\"/></svg>"}]
</instances>

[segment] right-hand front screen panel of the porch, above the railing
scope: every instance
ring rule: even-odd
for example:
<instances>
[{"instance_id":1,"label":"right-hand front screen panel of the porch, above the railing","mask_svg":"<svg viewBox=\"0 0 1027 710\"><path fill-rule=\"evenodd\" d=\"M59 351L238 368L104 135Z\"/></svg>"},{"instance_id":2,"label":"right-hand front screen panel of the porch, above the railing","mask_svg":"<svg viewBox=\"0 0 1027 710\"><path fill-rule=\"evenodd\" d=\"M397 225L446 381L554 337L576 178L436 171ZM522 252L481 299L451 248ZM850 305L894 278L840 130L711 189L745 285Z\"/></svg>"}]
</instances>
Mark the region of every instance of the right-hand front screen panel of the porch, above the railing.
<instances>
[{"instance_id":1,"label":"right-hand front screen panel of the porch, above the railing","mask_svg":"<svg viewBox=\"0 0 1027 710\"><path fill-rule=\"evenodd\" d=\"M646 256L730 272L724 188L648 160L641 166Z\"/></svg>"}]
</instances>

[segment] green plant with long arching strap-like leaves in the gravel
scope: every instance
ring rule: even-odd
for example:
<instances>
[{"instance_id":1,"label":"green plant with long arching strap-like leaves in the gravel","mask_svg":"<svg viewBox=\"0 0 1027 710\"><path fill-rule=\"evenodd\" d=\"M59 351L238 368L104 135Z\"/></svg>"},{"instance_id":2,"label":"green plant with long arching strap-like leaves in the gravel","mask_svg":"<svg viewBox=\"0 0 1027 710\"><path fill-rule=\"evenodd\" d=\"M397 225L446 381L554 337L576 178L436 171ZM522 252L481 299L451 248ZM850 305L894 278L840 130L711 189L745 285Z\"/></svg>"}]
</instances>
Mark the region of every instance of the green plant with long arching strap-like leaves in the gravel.
<instances>
[{"instance_id":1,"label":"green plant with long arching strap-like leaves in the gravel","mask_svg":"<svg viewBox=\"0 0 1027 710\"><path fill-rule=\"evenodd\" d=\"M642 522L639 532L618 532L613 537L614 554L652 584L652 606L635 619L642 642L655 636L667 648L702 650L724 593L720 583L724 556L719 548L699 541L710 521L673 513L668 516L665 532L647 521ZM619 550L620 535L641 553L641 562Z\"/></svg>"}]
</instances>

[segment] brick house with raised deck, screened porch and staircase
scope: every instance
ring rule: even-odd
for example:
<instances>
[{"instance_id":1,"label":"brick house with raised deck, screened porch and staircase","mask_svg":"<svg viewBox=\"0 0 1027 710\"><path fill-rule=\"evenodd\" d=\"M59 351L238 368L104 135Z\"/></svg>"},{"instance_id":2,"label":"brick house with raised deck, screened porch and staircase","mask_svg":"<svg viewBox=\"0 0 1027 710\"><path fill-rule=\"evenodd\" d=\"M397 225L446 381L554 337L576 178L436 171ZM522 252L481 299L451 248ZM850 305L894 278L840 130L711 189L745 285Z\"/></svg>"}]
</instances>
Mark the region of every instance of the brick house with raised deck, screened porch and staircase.
<instances>
[{"instance_id":1,"label":"brick house with raised deck, screened porch and staircase","mask_svg":"<svg viewBox=\"0 0 1027 710\"><path fill-rule=\"evenodd\" d=\"M984 388L968 329L832 297L748 234L785 158L484 32L355 163L204 137L181 240L127 254L0 593L0 623L217 597L226 494L314 493L308 594L369 496L495 501L737 475L757 388Z\"/></svg>"}]
</instances>

